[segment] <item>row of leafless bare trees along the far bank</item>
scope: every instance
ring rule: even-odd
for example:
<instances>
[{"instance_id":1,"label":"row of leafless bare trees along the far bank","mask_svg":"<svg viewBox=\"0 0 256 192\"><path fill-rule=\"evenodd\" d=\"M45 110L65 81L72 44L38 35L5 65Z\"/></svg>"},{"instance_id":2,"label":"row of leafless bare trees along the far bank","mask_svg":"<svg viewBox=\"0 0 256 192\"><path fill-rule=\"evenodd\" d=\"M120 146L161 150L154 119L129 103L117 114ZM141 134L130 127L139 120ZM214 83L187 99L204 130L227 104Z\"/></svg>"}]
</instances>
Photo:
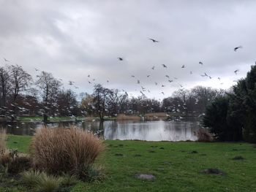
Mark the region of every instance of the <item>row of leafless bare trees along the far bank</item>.
<instances>
[{"instance_id":1,"label":"row of leafless bare trees along the far bank","mask_svg":"<svg viewBox=\"0 0 256 192\"><path fill-rule=\"evenodd\" d=\"M22 66L0 67L0 114L9 120L20 116L105 116L124 114L145 114L148 112L172 112L199 115L206 106L224 91L197 86L190 90L179 89L165 99L148 99L129 96L125 91L94 85L93 93L78 95L71 88L64 89L61 80L48 72L40 72L36 80Z\"/></svg>"}]
</instances>

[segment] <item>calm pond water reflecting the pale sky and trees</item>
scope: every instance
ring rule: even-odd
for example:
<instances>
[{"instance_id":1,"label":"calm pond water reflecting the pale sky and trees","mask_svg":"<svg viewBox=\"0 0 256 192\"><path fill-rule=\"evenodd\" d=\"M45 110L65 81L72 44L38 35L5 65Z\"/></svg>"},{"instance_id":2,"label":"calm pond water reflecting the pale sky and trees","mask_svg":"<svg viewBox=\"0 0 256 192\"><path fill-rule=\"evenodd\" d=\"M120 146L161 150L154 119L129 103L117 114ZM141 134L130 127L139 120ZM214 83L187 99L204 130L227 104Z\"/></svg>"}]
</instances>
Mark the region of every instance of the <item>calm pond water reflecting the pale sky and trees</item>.
<instances>
[{"instance_id":1,"label":"calm pond water reflecting the pale sky and trees","mask_svg":"<svg viewBox=\"0 0 256 192\"><path fill-rule=\"evenodd\" d=\"M104 139L138 139L145 141L195 141L195 131L200 128L197 118L189 118L179 121L135 121L135 120L108 120L104 123L98 121L87 122L63 122L49 123L48 126L70 126L75 125L89 130ZM9 134L33 135L37 128L42 128L43 123L8 123L2 125L7 127Z\"/></svg>"}]
</instances>

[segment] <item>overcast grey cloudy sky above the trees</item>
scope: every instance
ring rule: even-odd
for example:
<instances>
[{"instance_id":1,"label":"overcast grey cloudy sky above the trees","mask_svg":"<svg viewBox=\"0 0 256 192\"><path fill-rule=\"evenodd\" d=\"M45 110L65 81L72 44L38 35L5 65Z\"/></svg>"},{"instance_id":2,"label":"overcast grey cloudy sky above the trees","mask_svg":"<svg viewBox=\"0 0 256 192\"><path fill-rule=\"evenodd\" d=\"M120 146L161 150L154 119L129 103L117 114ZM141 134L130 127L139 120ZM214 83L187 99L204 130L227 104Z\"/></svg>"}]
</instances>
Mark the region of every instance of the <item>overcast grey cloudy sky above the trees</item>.
<instances>
[{"instance_id":1,"label":"overcast grey cloudy sky above the trees","mask_svg":"<svg viewBox=\"0 0 256 192\"><path fill-rule=\"evenodd\" d=\"M34 68L51 72L78 93L94 83L134 96L143 86L156 99L181 86L230 88L255 64L255 10L254 0L0 0L0 64L7 58L34 80Z\"/></svg>"}]
</instances>

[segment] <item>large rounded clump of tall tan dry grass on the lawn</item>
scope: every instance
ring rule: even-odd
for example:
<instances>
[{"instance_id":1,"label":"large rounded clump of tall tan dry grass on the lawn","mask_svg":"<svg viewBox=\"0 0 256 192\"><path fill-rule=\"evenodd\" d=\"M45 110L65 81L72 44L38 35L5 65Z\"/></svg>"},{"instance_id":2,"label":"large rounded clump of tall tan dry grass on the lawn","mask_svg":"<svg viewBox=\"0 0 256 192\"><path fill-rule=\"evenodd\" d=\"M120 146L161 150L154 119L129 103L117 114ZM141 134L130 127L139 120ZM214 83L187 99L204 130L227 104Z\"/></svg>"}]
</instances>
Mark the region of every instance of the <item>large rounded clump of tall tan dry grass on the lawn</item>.
<instances>
[{"instance_id":1,"label":"large rounded clump of tall tan dry grass on the lawn","mask_svg":"<svg viewBox=\"0 0 256 192\"><path fill-rule=\"evenodd\" d=\"M80 128L41 128L34 136L31 155L36 169L50 174L77 173L94 163L102 141Z\"/></svg>"}]
</instances>

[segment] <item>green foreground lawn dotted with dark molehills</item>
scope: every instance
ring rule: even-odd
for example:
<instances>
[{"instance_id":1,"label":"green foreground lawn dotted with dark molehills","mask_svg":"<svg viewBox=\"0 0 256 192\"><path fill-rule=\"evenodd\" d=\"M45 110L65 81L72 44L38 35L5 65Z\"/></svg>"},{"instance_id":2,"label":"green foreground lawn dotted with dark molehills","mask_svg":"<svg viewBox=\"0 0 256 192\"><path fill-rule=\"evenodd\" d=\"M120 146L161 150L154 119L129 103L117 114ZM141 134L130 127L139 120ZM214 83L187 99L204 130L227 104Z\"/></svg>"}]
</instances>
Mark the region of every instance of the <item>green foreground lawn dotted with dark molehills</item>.
<instances>
[{"instance_id":1,"label":"green foreground lawn dotted with dark molehills","mask_svg":"<svg viewBox=\"0 0 256 192\"><path fill-rule=\"evenodd\" d=\"M27 152L30 139L9 136L8 147ZM140 141L105 141L105 144L105 154L98 160L105 164L105 180L80 182L72 192L255 191L256 188L256 148L252 144ZM193 150L197 153L192 153ZM232 160L238 155L245 160ZM220 169L226 175L203 174L202 170L208 168ZM138 180L135 178L138 173L154 174L157 179Z\"/></svg>"}]
</instances>

